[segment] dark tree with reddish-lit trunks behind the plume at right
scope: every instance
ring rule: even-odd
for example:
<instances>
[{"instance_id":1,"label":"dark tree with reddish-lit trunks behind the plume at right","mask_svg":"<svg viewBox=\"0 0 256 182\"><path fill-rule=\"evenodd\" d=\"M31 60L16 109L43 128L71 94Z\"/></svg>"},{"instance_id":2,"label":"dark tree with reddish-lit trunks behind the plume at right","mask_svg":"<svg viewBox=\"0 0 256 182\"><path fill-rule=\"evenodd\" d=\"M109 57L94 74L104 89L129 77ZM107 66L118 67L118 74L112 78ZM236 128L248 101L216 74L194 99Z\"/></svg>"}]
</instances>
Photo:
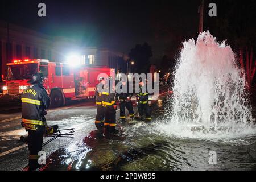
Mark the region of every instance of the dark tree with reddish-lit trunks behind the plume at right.
<instances>
[{"instance_id":1,"label":"dark tree with reddish-lit trunks behind the plume at right","mask_svg":"<svg viewBox=\"0 0 256 182\"><path fill-rule=\"evenodd\" d=\"M212 2L212 1L210 1ZM217 17L205 17L205 30L208 29L218 40L228 40L237 55L238 65L246 78L247 89L251 89L256 72L256 2L214 1Z\"/></svg>"}]
</instances>

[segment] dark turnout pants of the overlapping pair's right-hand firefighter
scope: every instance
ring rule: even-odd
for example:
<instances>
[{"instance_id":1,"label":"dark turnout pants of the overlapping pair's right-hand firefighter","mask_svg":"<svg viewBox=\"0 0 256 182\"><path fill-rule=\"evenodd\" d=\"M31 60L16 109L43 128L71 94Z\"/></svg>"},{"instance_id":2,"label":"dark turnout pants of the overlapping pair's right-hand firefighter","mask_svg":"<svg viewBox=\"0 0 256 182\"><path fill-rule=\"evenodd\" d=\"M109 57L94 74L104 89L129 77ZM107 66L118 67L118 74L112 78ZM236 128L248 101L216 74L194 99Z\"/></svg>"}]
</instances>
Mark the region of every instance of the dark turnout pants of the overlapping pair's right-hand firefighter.
<instances>
[{"instance_id":1,"label":"dark turnout pants of the overlapping pair's right-hand firefighter","mask_svg":"<svg viewBox=\"0 0 256 182\"><path fill-rule=\"evenodd\" d=\"M104 127L107 132L115 131L115 109L113 106L104 106Z\"/></svg>"}]
</instances>

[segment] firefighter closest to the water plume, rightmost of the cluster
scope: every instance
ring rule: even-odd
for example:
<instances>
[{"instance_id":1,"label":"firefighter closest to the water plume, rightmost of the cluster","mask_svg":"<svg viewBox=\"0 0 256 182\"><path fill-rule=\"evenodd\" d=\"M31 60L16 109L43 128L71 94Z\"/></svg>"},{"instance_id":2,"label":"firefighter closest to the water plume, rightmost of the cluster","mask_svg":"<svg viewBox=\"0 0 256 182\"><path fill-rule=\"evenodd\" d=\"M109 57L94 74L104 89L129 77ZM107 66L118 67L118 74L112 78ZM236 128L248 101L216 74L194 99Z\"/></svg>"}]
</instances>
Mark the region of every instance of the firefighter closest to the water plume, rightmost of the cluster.
<instances>
[{"instance_id":1,"label":"firefighter closest to the water plume, rightmost of the cluster","mask_svg":"<svg viewBox=\"0 0 256 182\"><path fill-rule=\"evenodd\" d=\"M143 114L146 115L146 121L151 121L151 96L147 92L146 80L139 81L139 94L136 96L138 105L138 119L143 119Z\"/></svg>"}]
</instances>

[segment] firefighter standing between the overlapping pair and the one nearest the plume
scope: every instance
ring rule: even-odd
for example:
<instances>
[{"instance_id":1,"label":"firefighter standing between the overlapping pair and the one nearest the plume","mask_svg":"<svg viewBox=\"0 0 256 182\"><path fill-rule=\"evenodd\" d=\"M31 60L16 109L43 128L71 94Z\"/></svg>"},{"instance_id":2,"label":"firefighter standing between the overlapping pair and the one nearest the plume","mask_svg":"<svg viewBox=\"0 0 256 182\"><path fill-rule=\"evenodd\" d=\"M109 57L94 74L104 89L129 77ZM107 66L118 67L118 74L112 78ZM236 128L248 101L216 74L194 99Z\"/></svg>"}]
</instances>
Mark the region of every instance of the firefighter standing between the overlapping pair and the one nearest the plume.
<instances>
[{"instance_id":1,"label":"firefighter standing between the overlapping pair and the one nearest the plume","mask_svg":"<svg viewBox=\"0 0 256 182\"><path fill-rule=\"evenodd\" d=\"M127 89L125 89L125 87ZM121 89L122 92L121 93L117 93L116 97L117 99L120 101L120 119L122 122L125 122L125 107L127 108L127 110L129 111L129 117L131 119L134 118L134 111L133 111L133 104L131 102L131 97L132 94L129 93L129 87L128 84L125 80L122 80L122 85L121 85Z\"/></svg>"}]
</instances>

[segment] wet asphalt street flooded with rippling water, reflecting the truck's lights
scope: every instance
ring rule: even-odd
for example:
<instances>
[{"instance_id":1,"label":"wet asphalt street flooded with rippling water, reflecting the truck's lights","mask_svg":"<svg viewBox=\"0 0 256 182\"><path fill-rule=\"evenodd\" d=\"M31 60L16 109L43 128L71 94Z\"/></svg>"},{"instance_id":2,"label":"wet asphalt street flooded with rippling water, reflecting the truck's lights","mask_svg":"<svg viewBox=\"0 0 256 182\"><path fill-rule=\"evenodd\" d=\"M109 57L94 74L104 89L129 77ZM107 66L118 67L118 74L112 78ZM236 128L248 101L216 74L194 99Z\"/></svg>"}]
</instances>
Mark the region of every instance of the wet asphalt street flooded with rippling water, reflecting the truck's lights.
<instances>
[{"instance_id":1,"label":"wet asphalt street flooded with rippling water, reflecting the truck's lights","mask_svg":"<svg viewBox=\"0 0 256 182\"><path fill-rule=\"evenodd\" d=\"M160 101L160 102L159 102ZM152 109L153 118L164 115L162 100ZM22 170L28 164L27 145L19 142L26 131L20 126L20 109L0 109L0 170ZM253 113L256 113L253 107ZM134 107L137 113L136 107ZM92 101L72 102L48 110L48 125L75 128L74 138L57 138L43 147L43 170L255 170L255 137L245 144L216 143L155 135L154 122L117 123L119 133L104 136L96 130L96 106ZM119 111L117 111L117 119ZM156 118L154 118L156 119ZM149 129L149 130L148 130ZM44 138L44 142L48 138ZM239 140L240 141L240 140ZM220 152L217 166L208 164L208 150ZM232 157L230 157L232 156Z\"/></svg>"}]
</instances>

